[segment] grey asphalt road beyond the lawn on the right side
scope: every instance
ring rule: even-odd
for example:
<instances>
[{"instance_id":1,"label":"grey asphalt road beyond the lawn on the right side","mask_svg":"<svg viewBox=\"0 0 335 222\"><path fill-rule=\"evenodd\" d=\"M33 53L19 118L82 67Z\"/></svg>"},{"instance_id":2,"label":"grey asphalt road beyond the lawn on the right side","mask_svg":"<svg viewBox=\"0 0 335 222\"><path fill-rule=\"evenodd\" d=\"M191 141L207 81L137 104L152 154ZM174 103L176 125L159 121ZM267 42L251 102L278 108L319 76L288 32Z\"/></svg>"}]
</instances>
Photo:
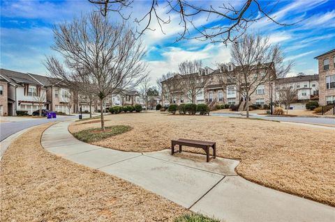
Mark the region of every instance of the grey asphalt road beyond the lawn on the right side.
<instances>
[{"instance_id":1,"label":"grey asphalt road beyond the lawn on the right side","mask_svg":"<svg viewBox=\"0 0 335 222\"><path fill-rule=\"evenodd\" d=\"M211 113L211 116L230 116L230 117L245 117L237 113ZM251 118L260 118L263 120L277 120L281 122L299 122L316 125L334 125L335 118L320 118L320 117L278 117L278 116L263 116L252 113Z\"/></svg>"}]
</instances>

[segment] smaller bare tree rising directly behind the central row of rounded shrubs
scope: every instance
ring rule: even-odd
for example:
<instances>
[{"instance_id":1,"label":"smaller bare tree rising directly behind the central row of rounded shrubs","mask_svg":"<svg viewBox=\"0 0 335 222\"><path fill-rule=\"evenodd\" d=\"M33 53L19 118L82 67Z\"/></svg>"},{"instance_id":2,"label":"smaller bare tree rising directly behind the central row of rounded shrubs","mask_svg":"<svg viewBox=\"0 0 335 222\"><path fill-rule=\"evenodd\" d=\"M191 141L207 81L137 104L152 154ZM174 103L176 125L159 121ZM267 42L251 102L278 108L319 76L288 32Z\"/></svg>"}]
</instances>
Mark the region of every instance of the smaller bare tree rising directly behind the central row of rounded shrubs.
<instances>
[{"instance_id":1,"label":"smaller bare tree rising directly behind the central row of rounded shrubs","mask_svg":"<svg viewBox=\"0 0 335 222\"><path fill-rule=\"evenodd\" d=\"M209 79L206 73L200 72L201 60L184 61L179 63L179 72L182 78L184 95L192 103L195 103L197 95L204 90Z\"/></svg>"}]
</instances>

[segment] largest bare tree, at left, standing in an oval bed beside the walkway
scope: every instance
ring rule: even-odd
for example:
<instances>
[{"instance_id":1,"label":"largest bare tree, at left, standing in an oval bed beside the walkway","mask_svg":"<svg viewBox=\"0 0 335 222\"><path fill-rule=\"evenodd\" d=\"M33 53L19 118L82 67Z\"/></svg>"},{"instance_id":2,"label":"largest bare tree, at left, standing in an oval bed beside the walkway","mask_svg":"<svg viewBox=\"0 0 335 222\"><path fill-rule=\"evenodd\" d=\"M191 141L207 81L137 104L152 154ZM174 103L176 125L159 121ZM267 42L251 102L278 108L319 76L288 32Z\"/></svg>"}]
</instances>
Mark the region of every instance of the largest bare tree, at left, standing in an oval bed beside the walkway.
<instances>
[{"instance_id":1,"label":"largest bare tree, at left, standing in an oval bed beside the walkway","mask_svg":"<svg viewBox=\"0 0 335 222\"><path fill-rule=\"evenodd\" d=\"M64 60L49 56L45 67L53 77L103 101L115 90L134 88L142 80L144 47L126 24L112 24L97 13L54 26L54 45ZM101 129L105 130L103 115Z\"/></svg>"}]
</instances>

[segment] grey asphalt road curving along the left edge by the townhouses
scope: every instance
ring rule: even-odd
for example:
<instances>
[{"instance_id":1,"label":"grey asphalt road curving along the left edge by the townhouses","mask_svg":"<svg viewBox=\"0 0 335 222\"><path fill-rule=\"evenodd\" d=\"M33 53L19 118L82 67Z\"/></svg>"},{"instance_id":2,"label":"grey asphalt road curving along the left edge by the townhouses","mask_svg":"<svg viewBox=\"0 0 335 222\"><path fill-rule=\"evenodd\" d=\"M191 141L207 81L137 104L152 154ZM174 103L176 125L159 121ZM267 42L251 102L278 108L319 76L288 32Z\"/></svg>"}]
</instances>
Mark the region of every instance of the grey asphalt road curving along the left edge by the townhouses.
<instances>
[{"instance_id":1,"label":"grey asphalt road curving along the left edge by the townhouses","mask_svg":"<svg viewBox=\"0 0 335 222\"><path fill-rule=\"evenodd\" d=\"M16 122L1 122L0 123L0 141L3 141L8 136L21 131L22 129L27 129L29 127L34 127L36 125L41 125L47 122L54 122L59 120L72 120L77 119L77 116L64 116L57 117L54 119L32 119L32 120L22 120Z\"/></svg>"}]
</instances>

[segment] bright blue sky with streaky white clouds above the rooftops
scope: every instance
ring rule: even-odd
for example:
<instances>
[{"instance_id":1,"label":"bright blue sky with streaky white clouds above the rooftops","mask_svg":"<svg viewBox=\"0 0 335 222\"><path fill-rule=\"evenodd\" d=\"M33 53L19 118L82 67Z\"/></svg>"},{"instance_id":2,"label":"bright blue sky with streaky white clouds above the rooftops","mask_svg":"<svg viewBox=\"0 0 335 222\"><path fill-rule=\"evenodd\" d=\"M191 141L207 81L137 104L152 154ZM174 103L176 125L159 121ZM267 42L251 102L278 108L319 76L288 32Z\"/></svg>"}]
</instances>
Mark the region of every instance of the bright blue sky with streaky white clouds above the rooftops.
<instances>
[{"instance_id":1,"label":"bright blue sky with streaky white clouds above the rooftops","mask_svg":"<svg viewBox=\"0 0 335 222\"><path fill-rule=\"evenodd\" d=\"M230 1L237 7L243 1ZM142 15L148 1L135 1L133 17ZM198 1L200 4L221 4L222 1ZM262 3L275 3L263 1ZM53 54L50 46L52 25L70 21L73 16L96 10L88 1L1 1L1 68L20 72L46 74L43 66L45 55ZM164 15L164 8L160 12ZM293 26L278 26L262 19L248 31L268 35L271 42L279 43L288 60L295 61L290 76L298 72L314 74L318 54L335 48L335 0L332 1L280 1L273 14L278 22L293 23ZM111 19L118 20L117 15ZM174 43L181 31L179 20L172 16L172 22L163 27L163 34L156 24L143 35L147 47L148 67L153 82L156 77L169 71L177 71L178 63L186 59L202 59L204 66L215 67L216 63L230 61L229 45L221 43L182 40ZM198 17L200 24L209 23L206 17Z\"/></svg>"}]
</instances>

